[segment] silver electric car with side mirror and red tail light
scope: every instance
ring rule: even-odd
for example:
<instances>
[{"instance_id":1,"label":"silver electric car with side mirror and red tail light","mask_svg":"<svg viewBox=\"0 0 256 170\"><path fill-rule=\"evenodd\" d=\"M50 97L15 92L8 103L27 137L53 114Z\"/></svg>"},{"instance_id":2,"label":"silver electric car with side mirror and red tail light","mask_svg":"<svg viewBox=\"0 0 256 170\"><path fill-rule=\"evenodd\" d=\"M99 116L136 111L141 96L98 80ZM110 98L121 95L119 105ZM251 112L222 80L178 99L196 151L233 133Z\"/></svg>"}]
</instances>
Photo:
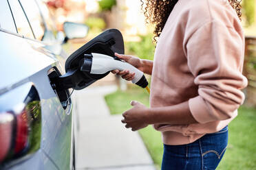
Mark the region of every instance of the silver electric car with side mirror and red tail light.
<instances>
[{"instance_id":1,"label":"silver electric car with side mirror and red tail light","mask_svg":"<svg viewBox=\"0 0 256 170\"><path fill-rule=\"evenodd\" d=\"M75 102L50 79L64 74L61 44L88 27L56 32L48 12L39 0L0 1L0 169L75 167Z\"/></svg>"}]
</instances>

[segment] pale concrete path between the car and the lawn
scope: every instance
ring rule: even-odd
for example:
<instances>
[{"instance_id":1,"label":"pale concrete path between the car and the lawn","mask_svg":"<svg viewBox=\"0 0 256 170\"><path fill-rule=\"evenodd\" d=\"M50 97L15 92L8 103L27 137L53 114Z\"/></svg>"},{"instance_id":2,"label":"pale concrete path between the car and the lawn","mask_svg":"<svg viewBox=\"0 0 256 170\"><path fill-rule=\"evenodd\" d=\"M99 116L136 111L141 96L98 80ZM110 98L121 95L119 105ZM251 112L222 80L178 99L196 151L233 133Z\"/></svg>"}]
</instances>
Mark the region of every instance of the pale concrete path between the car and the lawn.
<instances>
[{"instance_id":1,"label":"pale concrete path between the car and the lawn","mask_svg":"<svg viewBox=\"0 0 256 170\"><path fill-rule=\"evenodd\" d=\"M103 170L155 170L138 132L125 129L120 115L111 116L104 95L116 86L77 91L80 121L76 167Z\"/></svg>"}]
</instances>

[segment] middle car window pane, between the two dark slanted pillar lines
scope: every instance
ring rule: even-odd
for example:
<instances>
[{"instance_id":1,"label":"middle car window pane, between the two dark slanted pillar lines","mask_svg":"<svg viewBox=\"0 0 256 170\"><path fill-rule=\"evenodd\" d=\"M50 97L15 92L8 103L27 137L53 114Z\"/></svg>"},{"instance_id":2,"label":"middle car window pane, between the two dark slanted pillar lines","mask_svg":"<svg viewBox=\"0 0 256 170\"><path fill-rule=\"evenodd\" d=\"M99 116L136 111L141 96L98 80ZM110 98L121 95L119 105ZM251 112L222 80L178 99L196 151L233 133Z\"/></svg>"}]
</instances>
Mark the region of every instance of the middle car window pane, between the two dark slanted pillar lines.
<instances>
[{"instance_id":1,"label":"middle car window pane, between the two dark slanted pillar lines","mask_svg":"<svg viewBox=\"0 0 256 170\"><path fill-rule=\"evenodd\" d=\"M14 23L17 28L17 32L25 37L33 38L34 34L30 28L25 13L23 12L21 5L18 0L8 0L10 4L10 9L12 10L12 16L14 18Z\"/></svg>"}]
</instances>

